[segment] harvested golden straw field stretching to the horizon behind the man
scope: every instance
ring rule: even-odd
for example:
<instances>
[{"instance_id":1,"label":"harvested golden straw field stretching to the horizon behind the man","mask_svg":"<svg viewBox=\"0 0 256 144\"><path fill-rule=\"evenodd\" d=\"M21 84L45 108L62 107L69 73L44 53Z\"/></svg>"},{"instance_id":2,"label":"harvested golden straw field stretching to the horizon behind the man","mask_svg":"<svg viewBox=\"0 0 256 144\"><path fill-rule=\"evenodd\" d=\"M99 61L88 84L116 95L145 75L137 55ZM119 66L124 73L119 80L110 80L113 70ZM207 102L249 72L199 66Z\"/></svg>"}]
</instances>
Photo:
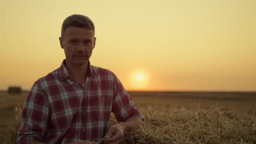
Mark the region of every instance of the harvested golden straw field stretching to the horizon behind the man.
<instances>
[{"instance_id":1,"label":"harvested golden straw field stretching to the horizon behind the man","mask_svg":"<svg viewBox=\"0 0 256 144\"><path fill-rule=\"evenodd\" d=\"M9 103L13 100L12 106L2 108L2 112L5 109L9 115L12 115L5 117L8 118L9 123L5 123L7 125L2 128L0 135L0 141L4 144L16 142L21 108L15 105L22 105L24 102L26 93L22 94L23 96L18 99L23 101L7 96ZM256 143L254 93L242 93L243 96L230 93L221 96L219 93L215 97L212 93L203 94L204 96L200 96L202 93L184 95L184 93L130 92L129 94L133 96L133 100L146 119L143 126L135 128L131 133L125 133L123 144ZM1 102L0 107L3 107L5 103ZM114 116L111 118L111 123L116 123Z\"/></svg>"}]
</instances>

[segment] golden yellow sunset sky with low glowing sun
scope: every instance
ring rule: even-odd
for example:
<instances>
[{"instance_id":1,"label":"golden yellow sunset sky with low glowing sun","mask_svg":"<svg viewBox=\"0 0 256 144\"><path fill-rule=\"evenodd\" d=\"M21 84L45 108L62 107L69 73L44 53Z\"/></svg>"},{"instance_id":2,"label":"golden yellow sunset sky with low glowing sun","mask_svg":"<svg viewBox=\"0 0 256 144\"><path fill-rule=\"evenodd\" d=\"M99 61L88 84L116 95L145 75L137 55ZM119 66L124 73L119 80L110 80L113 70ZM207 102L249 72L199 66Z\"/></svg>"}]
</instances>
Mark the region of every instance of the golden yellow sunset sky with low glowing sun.
<instances>
[{"instance_id":1,"label":"golden yellow sunset sky with low glowing sun","mask_svg":"<svg viewBox=\"0 0 256 144\"><path fill-rule=\"evenodd\" d=\"M96 27L91 64L127 90L256 91L255 0L0 0L0 89L60 67L74 13Z\"/></svg>"}]
</instances>

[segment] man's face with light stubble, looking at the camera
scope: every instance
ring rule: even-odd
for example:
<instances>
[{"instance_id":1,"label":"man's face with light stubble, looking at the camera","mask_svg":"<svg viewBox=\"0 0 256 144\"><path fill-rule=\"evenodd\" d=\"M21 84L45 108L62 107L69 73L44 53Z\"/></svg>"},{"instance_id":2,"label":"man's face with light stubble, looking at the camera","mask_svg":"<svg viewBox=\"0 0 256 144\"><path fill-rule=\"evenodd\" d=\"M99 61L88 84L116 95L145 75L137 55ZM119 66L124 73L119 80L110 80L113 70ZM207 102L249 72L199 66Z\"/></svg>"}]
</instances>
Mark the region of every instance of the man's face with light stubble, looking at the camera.
<instances>
[{"instance_id":1,"label":"man's face with light stubble, looking at the camera","mask_svg":"<svg viewBox=\"0 0 256 144\"><path fill-rule=\"evenodd\" d=\"M80 28L68 27L63 37L59 37L61 48L64 48L66 62L80 66L87 64L95 46L96 37L93 31Z\"/></svg>"}]
</instances>

